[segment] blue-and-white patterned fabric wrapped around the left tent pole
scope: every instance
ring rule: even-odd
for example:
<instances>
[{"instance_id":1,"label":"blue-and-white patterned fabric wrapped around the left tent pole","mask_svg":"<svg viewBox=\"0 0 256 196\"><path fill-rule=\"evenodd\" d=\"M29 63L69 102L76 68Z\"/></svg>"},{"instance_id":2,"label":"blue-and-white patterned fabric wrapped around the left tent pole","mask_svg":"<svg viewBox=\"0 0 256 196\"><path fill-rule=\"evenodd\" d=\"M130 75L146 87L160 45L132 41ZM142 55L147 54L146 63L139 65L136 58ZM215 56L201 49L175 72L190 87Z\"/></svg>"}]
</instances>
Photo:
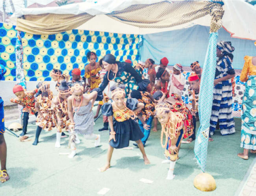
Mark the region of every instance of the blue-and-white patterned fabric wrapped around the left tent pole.
<instances>
[{"instance_id":1,"label":"blue-and-white patterned fabric wrapped around the left tent pole","mask_svg":"<svg viewBox=\"0 0 256 196\"><path fill-rule=\"evenodd\" d=\"M22 41L20 37L20 31L17 31L17 39L15 46L15 57L16 57L16 81L17 84L22 85L24 89L26 89L26 80L23 72L23 48ZM19 116L21 116L22 106L19 106Z\"/></svg>"}]
</instances>

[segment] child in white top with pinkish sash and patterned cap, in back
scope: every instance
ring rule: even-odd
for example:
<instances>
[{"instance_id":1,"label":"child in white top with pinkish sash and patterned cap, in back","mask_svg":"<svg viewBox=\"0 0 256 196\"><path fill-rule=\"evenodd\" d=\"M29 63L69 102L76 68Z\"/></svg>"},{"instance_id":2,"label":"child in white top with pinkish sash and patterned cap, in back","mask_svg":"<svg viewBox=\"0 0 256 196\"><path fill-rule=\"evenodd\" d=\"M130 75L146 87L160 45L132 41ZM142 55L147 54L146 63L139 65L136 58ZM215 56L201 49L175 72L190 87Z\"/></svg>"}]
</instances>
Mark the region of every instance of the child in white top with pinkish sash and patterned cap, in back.
<instances>
[{"instance_id":1,"label":"child in white top with pinkish sash and patterned cap, in back","mask_svg":"<svg viewBox=\"0 0 256 196\"><path fill-rule=\"evenodd\" d=\"M173 66L173 74L171 76L170 82L170 96L171 94L179 94L180 96L182 96L182 91L184 89L185 83L185 77L182 74L182 65L180 65L180 63L177 63Z\"/></svg>"}]
</instances>

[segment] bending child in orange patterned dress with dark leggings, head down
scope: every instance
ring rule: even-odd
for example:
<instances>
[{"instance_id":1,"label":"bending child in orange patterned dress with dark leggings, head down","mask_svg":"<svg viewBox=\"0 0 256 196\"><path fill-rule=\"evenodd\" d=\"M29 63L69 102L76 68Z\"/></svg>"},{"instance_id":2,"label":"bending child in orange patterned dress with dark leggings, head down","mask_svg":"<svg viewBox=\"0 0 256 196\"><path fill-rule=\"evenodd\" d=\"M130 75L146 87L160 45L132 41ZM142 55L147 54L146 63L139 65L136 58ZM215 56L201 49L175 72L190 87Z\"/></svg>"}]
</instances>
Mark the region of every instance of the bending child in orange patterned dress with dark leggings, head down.
<instances>
[{"instance_id":1,"label":"bending child in orange patterned dress with dark leggings, head down","mask_svg":"<svg viewBox=\"0 0 256 196\"><path fill-rule=\"evenodd\" d=\"M33 145L38 144L39 135L44 129L45 131L51 131L56 127L56 113L54 110L54 105L52 104L52 91L50 91L50 83L40 82L38 91L41 93L35 98L35 109L38 112L35 124L37 125L37 130L35 133L35 141Z\"/></svg>"}]
</instances>

